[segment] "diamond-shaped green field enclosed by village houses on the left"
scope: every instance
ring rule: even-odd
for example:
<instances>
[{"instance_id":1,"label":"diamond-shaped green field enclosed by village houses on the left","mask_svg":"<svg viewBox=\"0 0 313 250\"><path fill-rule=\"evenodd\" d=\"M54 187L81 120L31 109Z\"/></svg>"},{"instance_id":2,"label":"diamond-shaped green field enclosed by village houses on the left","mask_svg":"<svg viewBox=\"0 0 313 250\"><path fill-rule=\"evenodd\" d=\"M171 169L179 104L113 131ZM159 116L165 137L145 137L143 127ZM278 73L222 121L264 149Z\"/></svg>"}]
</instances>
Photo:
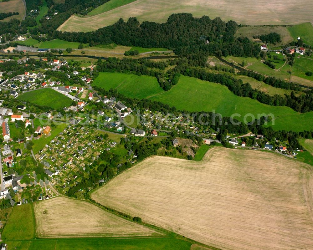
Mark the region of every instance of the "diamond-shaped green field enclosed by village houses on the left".
<instances>
[{"instance_id":1,"label":"diamond-shaped green field enclosed by village houses on the left","mask_svg":"<svg viewBox=\"0 0 313 250\"><path fill-rule=\"evenodd\" d=\"M18 96L18 100L25 100L40 106L47 106L52 109L70 106L72 99L53 89L37 89Z\"/></svg>"}]
</instances>

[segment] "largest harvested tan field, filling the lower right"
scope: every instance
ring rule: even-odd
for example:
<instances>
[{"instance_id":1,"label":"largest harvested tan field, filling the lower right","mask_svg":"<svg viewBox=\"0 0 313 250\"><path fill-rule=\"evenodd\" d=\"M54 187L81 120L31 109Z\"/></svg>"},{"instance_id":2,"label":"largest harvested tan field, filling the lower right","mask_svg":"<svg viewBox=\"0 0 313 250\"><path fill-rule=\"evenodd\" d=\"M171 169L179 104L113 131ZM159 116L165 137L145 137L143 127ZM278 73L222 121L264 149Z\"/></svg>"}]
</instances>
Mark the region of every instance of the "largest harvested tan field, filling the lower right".
<instances>
[{"instance_id":1,"label":"largest harvested tan field, filling the lower right","mask_svg":"<svg viewBox=\"0 0 313 250\"><path fill-rule=\"evenodd\" d=\"M312 249L309 167L273 153L215 147L200 162L148 158L92 199L221 249Z\"/></svg>"}]
</instances>

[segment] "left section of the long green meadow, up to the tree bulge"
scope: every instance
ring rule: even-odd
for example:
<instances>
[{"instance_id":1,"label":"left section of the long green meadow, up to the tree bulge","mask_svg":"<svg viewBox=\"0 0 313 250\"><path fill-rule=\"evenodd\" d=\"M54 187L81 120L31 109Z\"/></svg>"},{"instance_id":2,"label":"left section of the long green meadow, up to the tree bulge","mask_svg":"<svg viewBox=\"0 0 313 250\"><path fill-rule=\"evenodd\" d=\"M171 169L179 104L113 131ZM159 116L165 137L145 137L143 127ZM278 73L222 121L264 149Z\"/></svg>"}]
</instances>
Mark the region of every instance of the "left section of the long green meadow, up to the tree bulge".
<instances>
[{"instance_id":1,"label":"left section of the long green meadow, up to the tree bulge","mask_svg":"<svg viewBox=\"0 0 313 250\"><path fill-rule=\"evenodd\" d=\"M92 85L106 90L117 89L122 94L140 99L164 92L155 77L134 74L100 72Z\"/></svg>"}]
</instances>

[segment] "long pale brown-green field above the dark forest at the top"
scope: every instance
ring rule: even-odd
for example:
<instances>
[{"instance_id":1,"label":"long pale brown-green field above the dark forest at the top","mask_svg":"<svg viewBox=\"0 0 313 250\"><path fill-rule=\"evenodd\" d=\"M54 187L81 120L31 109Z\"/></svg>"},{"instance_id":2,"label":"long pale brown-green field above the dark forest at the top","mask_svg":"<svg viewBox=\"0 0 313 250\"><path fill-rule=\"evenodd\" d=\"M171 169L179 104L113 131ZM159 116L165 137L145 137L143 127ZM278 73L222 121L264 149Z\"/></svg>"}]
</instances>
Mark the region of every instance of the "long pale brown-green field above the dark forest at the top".
<instances>
[{"instance_id":1,"label":"long pale brown-green field above the dark forest at the top","mask_svg":"<svg viewBox=\"0 0 313 250\"><path fill-rule=\"evenodd\" d=\"M195 17L207 15L210 18L234 20L248 25L297 24L313 21L311 0L301 0L295 4L292 0L277 3L276 0L137 0L126 1L126 5L111 9L100 6L93 10L93 16L71 16L60 27L62 31L92 31L113 24L123 18L136 17L140 22L154 21L164 23L172 13L192 13ZM120 4L117 4L118 6ZM103 11L100 13L100 11Z\"/></svg>"}]
</instances>

